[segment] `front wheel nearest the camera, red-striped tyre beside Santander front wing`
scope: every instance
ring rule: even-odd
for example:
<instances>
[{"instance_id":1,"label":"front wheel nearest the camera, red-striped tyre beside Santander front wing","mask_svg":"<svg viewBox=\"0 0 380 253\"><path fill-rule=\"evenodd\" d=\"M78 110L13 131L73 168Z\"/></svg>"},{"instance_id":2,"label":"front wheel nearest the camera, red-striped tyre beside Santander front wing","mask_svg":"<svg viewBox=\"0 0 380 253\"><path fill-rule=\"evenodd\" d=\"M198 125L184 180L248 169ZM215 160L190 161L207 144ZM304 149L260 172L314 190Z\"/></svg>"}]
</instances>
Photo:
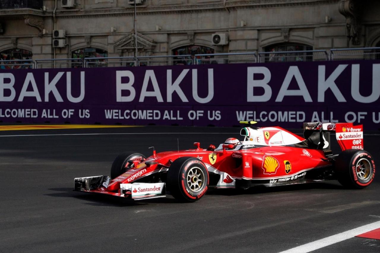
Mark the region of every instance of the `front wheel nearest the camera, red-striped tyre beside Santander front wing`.
<instances>
[{"instance_id":1,"label":"front wheel nearest the camera, red-striped tyre beside Santander front wing","mask_svg":"<svg viewBox=\"0 0 380 253\"><path fill-rule=\"evenodd\" d=\"M180 157L169 167L166 177L168 191L179 201L194 202L207 191L209 173L203 162L194 157Z\"/></svg>"}]
</instances>

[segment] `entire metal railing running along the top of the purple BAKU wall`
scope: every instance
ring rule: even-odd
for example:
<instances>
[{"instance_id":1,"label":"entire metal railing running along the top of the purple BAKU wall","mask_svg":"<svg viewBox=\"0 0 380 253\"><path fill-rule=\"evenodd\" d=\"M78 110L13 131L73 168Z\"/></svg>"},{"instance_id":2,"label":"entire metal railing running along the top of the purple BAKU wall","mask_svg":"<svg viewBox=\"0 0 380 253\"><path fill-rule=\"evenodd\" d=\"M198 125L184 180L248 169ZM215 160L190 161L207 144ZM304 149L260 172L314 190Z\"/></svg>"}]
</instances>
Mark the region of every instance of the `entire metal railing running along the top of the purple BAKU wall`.
<instances>
[{"instance_id":1,"label":"entire metal railing running along the top of the purple BAKU wall","mask_svg":"<svg viewBox=\"0 0 380 253\"><path fill-rule=\"evenodd\" d=\"M240 52L195 55L157 55L37 60L0 60L0 70L26 68L95 68L168 66L256 62L308 62L322 60L380 60L380 47L339 48L309 51Z\"/></svg>"}]
</instances>

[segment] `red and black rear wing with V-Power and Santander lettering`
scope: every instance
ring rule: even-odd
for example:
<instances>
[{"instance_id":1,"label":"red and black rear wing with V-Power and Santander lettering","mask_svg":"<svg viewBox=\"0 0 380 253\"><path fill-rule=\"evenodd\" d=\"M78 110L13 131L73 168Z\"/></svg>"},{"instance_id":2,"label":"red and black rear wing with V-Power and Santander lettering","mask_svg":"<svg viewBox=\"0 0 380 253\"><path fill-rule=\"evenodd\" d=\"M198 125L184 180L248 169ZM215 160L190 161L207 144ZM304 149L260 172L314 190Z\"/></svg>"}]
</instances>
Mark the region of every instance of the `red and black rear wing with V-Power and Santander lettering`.
<instances>
[{"instance_id":1,"label":"red and black rear wing with V-Power and Santander lettering","mask_svg":"<svg viewBox=\"0 0 380 253\"><path fill-rule=\"evenodd\" d=\"M304 123L304 137L308 145L317 145L317 149L330 150L331 132L335 132L336 140L342 151L346 149L364 149L363 125L354 126L353 123Z\"/></svg>"}]
</instances>

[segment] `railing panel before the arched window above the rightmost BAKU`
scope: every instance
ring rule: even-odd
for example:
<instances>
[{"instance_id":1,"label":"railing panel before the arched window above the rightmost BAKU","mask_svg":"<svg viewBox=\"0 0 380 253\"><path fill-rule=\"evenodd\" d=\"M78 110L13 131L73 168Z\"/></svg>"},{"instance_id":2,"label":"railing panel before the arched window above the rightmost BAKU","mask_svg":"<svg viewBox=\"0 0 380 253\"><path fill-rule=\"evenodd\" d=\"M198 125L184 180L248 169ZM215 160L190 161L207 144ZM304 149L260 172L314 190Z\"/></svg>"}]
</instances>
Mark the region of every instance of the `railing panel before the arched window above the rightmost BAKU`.
<instances>
[{"instance_id":1,"label":"railing panel before the arched window above the rightmost BAKU","mask_svg":"<svg viewBox=\"0 0 380 253\"><path fill-rule=\"evenodd\" d=\"M313 62L329 60L326 50L260 52L259 62Z\"/></svg>"}]
</instances>

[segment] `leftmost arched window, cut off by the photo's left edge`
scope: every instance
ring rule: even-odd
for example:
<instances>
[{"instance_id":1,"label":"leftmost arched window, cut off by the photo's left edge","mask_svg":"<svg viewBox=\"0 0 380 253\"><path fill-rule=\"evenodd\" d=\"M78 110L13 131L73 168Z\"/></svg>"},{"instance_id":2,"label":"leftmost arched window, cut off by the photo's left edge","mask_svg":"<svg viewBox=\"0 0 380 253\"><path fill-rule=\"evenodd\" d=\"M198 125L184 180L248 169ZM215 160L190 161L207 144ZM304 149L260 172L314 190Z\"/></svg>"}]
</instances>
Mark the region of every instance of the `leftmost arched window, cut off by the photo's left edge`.
<instances>
[{"instance_id":1,"label":"leftmost arched window, cut off by the photo's left edge","mask_svg":"<svg viewBox=\"0 0 380 253\"><path fill-rule=\"evenodd\" d=\"M31 68L32 65L30 61L23 62L22 60L32 60L32 52L20 49L12 48L0 52L0 60L7 61L1 62L2 69L17 69L17 68ZM11 62L8 62L11 61ZM14 62L12 62L14 61ZM29 64L28 64L29 63Z\"/></svg>"}]
</instances>

